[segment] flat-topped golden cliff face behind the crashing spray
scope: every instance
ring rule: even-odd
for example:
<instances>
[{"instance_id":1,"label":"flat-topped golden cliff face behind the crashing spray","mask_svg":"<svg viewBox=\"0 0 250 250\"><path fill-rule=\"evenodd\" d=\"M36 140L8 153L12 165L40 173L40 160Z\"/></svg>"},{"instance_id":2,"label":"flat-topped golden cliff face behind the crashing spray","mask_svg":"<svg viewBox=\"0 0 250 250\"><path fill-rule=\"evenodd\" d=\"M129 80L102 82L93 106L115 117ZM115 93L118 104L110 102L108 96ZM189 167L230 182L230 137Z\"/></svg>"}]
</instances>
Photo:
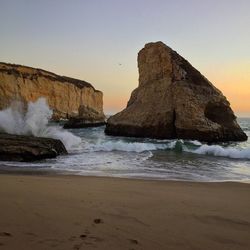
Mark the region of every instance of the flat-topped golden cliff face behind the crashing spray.
<instances>
[{"instance_id":1,"label":"flat-topped golden cliff face behind the crashing spray","mask_svg":"<svg viewBox=\"0 0 250 250\"><path fill-rule=\"evenodd\" d=\"M84 105L103 115L103 94L85 81L26 66L0 63L0 109L13 100L35 101L45 97L53 118L78 115Z\"/></svg>"}]
</instances>

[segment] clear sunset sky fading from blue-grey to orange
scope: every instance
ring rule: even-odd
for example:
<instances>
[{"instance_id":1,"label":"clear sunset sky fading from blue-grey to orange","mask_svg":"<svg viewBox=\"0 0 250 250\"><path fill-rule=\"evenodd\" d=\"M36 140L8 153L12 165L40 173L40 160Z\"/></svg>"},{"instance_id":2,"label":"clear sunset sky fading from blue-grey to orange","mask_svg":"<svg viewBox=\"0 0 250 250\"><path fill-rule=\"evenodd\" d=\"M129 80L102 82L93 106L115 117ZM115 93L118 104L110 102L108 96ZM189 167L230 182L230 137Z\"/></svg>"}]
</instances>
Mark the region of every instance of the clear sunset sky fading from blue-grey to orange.
<instances>
[{"instance_id":1,"label":"clear sunset sky fading from blue-grey to orange","mask_svg":"<svg viewBox=\"0 0 250 250\"><path fill-rule=\"evenodd\" d=\"M0 61L88 81L104 110L138 86L137 53L162 41L250 116L249 0L0 0Z\"/></svg>"}]
</instances>

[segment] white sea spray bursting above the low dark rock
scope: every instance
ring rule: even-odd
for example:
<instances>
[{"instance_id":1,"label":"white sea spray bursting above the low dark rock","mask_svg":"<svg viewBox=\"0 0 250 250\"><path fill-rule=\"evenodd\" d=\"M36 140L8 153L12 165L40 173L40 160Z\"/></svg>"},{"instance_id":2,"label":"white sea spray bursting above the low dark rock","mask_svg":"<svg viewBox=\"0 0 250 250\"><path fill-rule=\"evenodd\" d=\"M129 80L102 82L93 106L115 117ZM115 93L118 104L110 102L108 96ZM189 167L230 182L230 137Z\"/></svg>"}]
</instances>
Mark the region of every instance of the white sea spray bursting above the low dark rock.
<instances>
[{"instance_id":1,"label":"white sea spray bursting above the low dark rock","mask_svg":"<svg viewBox=\"0 0 250 250\"><path fill-rule=\"evenodd\" d=\"M59 126L49 126L52 110L45 98L29 102L25 111L22 103L13 103L0 111L0 131L9 134L33 135L59 139L67 150L81 143L81 139Z\"/></svg>"}]
</instances>

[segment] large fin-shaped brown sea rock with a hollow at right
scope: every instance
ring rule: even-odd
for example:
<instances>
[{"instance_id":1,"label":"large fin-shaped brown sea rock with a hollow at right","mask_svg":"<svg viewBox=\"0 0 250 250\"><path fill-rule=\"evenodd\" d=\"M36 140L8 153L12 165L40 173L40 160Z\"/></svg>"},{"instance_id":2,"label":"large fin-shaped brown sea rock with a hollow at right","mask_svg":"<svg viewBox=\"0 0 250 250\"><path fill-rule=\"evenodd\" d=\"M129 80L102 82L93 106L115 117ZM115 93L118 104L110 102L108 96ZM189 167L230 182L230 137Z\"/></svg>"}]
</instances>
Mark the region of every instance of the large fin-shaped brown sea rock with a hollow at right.
<instances>
[{"instance_id":1,"label":"large fin-shaped brown sea rock with a hollow at right","mask_svg":"<svg viewBox=\"0 0 250 250\"><path fill-rule=\"evenodd\" d=\"M109 135L207 142L244 141L229 102L198 70L162 42L138 54L139 86L110 117Z\"/></svg>"}]
</instances>

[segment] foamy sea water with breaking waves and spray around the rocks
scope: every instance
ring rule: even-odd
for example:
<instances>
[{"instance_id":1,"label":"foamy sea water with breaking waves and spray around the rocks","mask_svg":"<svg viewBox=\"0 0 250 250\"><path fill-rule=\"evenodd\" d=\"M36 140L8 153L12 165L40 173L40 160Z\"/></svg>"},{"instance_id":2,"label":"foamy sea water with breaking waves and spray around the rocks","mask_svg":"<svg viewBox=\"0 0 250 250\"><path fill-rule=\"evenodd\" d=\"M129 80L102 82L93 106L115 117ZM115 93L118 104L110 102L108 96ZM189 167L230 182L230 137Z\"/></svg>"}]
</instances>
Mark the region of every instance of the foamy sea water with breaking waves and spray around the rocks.
<instances>
[{"instance_id":1,"label":"foamy sea water with breaking waves and spray around the rocks","mask_svg":"<svg viewBox=\"0 0 250 250\"><path fill-rule=\"evenodd\" d=\"M1 162L0 169L143 179L250 181L250 140L208 145L192 140L113 137L105 135L104 126L63 130L48 123L52 113L44 100L32 108L24 115L11 108L1 111L0 130L8 127L9 133L61 139L69 154L35 163ZM39 115L35 115L37 109ZM8 122L13 124L13 119L18 124L15 128L7 126ZM239 118L238 122L250 137L250 118Z\"/></svg>"}]
</instances>

